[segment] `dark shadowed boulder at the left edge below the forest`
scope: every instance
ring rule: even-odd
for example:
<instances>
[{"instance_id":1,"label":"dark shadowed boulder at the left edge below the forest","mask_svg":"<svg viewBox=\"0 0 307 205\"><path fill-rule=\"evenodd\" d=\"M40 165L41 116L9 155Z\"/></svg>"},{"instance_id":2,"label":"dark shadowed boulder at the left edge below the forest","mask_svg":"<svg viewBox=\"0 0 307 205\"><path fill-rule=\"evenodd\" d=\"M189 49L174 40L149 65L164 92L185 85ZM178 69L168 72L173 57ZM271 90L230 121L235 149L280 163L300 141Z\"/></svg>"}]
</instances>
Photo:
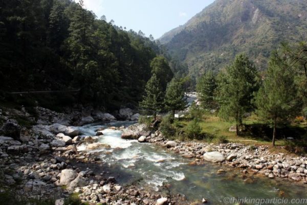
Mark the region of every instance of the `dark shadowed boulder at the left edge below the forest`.
<instances>
[{"instance_id":1,"label":"dark shadowed boulder at the left edge below the forest","mask_svg":"<svg viewBox=\"0 0 307 205\"><path fill-rule=\"evenodd\" d=\"M8 119L0 128L0 134L20 140L21 127L15 119Z\"/></svg>"}]
</instances>

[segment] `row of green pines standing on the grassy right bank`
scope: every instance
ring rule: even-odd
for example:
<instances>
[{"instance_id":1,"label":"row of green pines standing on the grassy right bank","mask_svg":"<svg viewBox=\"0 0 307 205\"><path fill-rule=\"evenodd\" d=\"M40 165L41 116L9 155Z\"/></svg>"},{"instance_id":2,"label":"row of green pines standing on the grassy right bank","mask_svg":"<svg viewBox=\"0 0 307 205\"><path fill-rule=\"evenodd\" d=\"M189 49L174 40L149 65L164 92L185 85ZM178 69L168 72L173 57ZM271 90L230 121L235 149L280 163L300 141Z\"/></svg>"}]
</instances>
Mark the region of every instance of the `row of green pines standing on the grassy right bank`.
<instances>
[{"instance_id":1,"label":"row of green pines standing on the grassy right bank","mask_svg":"<svg viewBox=\"0 0 307 205\"><path fill-rule=\"evenodd\" d=\"M206 72L197 84L204 109L218 111L226 120L236 121L236 134L247 113L255 112L276 129L295 116L307 115L307 46L283 43L272 52L268 70L259 73L246 54L238 54L233 63L217 75Z\"/></svg>"}]
</instances>

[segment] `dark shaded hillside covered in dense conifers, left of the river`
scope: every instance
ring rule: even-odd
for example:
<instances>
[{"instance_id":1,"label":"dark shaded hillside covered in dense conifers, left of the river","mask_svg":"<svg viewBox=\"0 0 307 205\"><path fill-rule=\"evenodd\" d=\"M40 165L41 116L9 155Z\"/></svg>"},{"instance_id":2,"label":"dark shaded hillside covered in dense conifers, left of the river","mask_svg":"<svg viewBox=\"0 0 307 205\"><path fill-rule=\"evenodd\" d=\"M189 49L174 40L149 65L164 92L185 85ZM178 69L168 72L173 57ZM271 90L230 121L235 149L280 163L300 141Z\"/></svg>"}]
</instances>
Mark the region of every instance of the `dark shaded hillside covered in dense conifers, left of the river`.
<instances>
[{"instance_id":1,"label":"dark shaded hillside covered in dense conifers, left of the river","mask_svg":"<svg viewBox=\"0 0 307 205\"><path fill-rule=\"evenodd\" d=\"M162 53L153 38L98 19L82 1L2 1L0 12L2 99L15 100L7 94L16 91L80 90L27 97L43 106L137 105L150 62Z\"/></svg>"}]
</instances>

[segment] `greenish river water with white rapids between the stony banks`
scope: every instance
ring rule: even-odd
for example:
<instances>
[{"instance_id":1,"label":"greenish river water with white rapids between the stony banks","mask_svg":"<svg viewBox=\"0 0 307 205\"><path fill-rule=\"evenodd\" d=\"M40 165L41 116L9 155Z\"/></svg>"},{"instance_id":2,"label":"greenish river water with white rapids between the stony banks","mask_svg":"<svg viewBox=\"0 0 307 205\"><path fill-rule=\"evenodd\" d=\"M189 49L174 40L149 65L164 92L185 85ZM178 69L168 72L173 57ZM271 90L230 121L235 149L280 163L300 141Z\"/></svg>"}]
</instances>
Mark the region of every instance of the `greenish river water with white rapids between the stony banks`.
<instances>
[{"instance_id":1,"label":"greenish river water with white rapids between the stony banks","mask_svg":"<svg viewBox=\"0 0 307 205\"><path fill-rule=\"evenodd\" d=\"M95 135L98 128L105 128L104 135L99 137L99 142L111 148L93 152L99 152L102 161L109 166L113 176L120 183L127 184L143 178L141 186L158 191L161 190L163 181L167 181L171 185L172 194L181 193L189 201L206 198L211 204L226 204L225 197L241 199L245 197L307 198L306 187L293 182L261 176L249 176L246 179L238 170L223 168L209 162L200 166L191 166L189 163L193 159L185 159L174 152L152 144L121 139L121 131L108 129L110 126L119 127L131 124L132 122L117 121L105 125L91 124L80 127L84 135ZM84 150L85 146L80 146L78 149ZM217 170L221 168L227 169L226 174L217 174ZM116 175L117 173L120 174Z\"/></svg>"}]
</instances>

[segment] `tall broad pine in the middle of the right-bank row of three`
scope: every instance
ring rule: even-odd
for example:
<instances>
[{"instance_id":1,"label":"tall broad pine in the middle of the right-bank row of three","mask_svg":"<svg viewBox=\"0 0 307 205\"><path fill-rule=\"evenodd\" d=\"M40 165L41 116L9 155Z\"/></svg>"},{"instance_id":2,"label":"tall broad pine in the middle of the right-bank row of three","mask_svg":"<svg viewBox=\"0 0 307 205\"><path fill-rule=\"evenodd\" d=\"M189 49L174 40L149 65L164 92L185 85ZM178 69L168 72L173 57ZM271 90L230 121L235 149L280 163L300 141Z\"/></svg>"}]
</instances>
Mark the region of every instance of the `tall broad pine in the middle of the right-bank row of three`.
<instances>
[{"instance_id":1,"label":"tall broad pine in the middle of the right-bank row of three","mask_svg":"<svg viewBox=\"0 0 307 205\"><path fill-rule=\"evenodd\" d=\"M257 71L245 54L239 54L234 62L220 75L218 85L219 115L225 119L233 117L238 126L242 124L245 112L253 108L254 92L258 90Z\"/></svg>"}]
</instances>

